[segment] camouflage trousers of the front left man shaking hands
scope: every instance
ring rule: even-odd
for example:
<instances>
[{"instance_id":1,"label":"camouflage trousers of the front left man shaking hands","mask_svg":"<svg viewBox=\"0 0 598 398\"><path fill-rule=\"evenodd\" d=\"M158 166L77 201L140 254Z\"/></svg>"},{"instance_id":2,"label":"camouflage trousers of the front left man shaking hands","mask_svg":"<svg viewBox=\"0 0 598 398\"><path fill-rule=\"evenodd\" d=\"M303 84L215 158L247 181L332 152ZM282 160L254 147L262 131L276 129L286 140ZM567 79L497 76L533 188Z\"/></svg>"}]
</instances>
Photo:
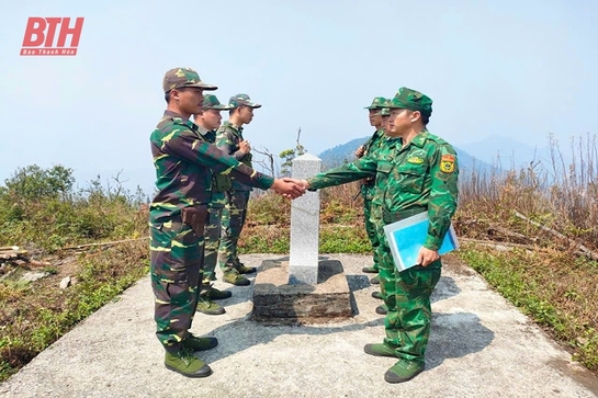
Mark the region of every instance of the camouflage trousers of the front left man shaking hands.
<instances>
[{"instance_id":1,"label":"camouflage trousers of the front left man shaking hands","mask_svg":"<svg viewBox=\"0 0 598 398\"><path fill-rule=\"evenodd\" d=\"M180 218L151 223L149 235L156 336L166 350L178 351L198 305L203 236Z\"/></svg>"}]
</instances>

